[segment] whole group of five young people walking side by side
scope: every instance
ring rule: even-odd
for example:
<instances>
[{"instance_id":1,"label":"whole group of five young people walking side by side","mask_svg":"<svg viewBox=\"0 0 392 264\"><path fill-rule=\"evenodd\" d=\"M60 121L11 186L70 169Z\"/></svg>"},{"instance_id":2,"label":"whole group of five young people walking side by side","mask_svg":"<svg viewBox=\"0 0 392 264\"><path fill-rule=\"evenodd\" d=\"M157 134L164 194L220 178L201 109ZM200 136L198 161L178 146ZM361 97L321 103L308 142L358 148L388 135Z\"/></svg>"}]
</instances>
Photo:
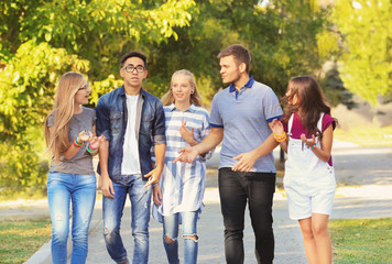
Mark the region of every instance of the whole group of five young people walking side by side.
<instances>
[{"instance_id":1,"label":"whole group of five young people walking side by side","mask_svg":"<svg viewBox=\"0 0 392 264\"><path fill-rule=\"evenodd\" d=\"M235 44L218 54L222 82L229 85L203 108L194 75L173 74L157 99L142 88L146 57L126 53L123 86L100 97L96 110L85 108L90 87L78 73L59 79L54 108L45 122L53 155L47 198L53 223L53 263L66 263L72 201L70 263L85 263L88 229L96 199L92 156L99 154L104 238L116 263L131 263L120 235L127 195L131 201L133 262L149 261L149 221L163 224L168 263L179 263L178 227L184 263L197 263L197 221L204 208L206 160L221 142L219 196L227 263L243 263L244 210L249 206L258 263L272 263L272 202L279 144L287 153L284 187L290 217L300 222L309 263L331 263L327 223L336 189L331 161L333 131L323 92L315 78L292 78L281 103L274 91L249 75L249 51ZM153 208L151 210L151 199Z\"/></svg>"}]
</instances>

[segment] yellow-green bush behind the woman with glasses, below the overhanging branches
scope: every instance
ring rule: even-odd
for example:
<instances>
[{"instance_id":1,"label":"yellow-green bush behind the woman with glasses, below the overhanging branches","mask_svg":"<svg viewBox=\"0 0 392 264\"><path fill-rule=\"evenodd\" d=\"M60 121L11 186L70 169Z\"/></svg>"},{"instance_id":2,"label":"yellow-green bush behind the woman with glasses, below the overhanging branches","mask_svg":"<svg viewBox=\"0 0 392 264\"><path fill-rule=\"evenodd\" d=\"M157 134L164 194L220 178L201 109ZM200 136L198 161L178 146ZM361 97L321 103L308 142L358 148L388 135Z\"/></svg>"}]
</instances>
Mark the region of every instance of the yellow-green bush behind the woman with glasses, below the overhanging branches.
<instances>
[{"instance_id":1,"label":"yellow-green bush behind the woman with glasses, below the overhanging branches","mask_svg":"<svg viewBox=\"0 0 392 264\"><path fill-rule=\"evenodd\" d=\"M43 191L40 165L41 125L51 109L54 82L67 70L88 70L88 62L47 43L23 43L0 72L0 184L10 191ZM42 140L41 140L42 142ZM33 188L32 188L33 187Z\"/></svg>"}]
</instances>

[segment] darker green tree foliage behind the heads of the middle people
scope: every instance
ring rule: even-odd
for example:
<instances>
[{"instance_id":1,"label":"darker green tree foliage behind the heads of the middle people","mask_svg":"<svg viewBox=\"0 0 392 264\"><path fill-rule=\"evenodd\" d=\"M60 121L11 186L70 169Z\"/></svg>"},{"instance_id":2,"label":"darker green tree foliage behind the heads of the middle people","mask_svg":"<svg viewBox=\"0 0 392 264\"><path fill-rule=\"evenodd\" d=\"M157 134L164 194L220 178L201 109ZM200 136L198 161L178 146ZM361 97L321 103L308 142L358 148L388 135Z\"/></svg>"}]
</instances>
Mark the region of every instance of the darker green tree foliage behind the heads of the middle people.
<instances>
[{"instance_id":1,"label":"darker green tree foliage behind the heads of the middle people","mask_svg":"<svg viewBox=\"0 0 392 264\"><path fill-rule=\"evenodd\" d=\"M150 80L159 84L153 91L161 96L167 90L171 74L187 68L200 79L198 88L210 102L222 88L216 56L235 43L249 48L251 75L279 95L283 96L293 76L318 77L323 63L338 51L327 21L329 10L317 8L317 1L259 2L198 1L199 14L194 15L189 28L178 30L177 42L172 37L150 48Z\"/></svg>"}]
</instances>

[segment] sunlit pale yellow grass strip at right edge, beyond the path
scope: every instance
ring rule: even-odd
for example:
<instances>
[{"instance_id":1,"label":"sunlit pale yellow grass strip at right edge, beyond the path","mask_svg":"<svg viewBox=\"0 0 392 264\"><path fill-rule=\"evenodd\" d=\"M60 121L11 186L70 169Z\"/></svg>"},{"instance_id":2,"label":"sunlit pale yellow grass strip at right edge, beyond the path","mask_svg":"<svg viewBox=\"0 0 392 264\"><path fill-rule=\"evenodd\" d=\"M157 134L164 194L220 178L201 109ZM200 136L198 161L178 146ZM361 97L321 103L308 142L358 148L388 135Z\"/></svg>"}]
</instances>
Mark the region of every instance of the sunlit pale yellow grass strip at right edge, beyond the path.
<instances>
[{"instance_id":1,"label":"sunlit pale yellow grass strip at right edge, beyond the path","mask_svg":"<svg viewBox=\"0 0 392 264\"><path fill-rule=\"evenodd\" d=\"M339 141L352 142L360 146L392 146L392 125L384 128L352 128L349 131L336 129L334 138Z\"/></svg>"}]
</instances>

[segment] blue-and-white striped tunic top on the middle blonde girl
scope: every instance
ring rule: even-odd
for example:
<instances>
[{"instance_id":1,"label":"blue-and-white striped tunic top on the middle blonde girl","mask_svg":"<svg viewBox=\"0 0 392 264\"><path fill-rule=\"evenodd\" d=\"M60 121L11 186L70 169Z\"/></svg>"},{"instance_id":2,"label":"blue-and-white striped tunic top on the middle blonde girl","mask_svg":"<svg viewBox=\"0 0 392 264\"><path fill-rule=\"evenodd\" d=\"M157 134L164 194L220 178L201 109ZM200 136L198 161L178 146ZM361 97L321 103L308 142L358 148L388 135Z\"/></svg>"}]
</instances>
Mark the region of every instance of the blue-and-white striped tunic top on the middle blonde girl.
<instances>
[{"instance_id":1,"label":"blue-and-white striped tunic top on the middle blonde girl","mask_svg":"<svg viewBox=\"0 0 392 264\"><path fill-rule=\"evenodd\" d=\"M204 157L197 156L192 163L173 163L178 151L189 144L179 134L182 120L188 130L194 129L194 139L200 142L209 132L209 114L207 110L192 105L181 111L173 103L164 107L166 124L166 154L160 182L162 205L153 207L153 217L162 222L162 216L182 211L198 211L200 217L204 190L206 188L206 160L214 150Z\"/></svg>"}]
</instances>

